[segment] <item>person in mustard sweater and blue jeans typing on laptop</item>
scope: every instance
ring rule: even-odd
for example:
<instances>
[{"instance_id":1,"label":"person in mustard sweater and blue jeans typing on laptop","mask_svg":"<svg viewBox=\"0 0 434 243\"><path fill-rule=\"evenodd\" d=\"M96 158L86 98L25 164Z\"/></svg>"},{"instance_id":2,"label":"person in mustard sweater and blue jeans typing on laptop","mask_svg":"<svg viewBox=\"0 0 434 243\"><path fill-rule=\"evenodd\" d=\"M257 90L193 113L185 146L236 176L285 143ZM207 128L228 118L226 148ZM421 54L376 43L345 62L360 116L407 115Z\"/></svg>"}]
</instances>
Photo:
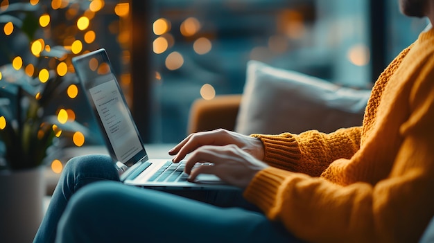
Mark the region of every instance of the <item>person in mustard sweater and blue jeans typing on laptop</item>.
<instances>
[{"instance_id":1,"label":"person in mustard sweater and blue jeans typing on laptop","mask_svg":"<svg viewBox=\"0 0 434 243\"><path fill-rule=\"evenodd\" d=\"M399 3L433 23L434 1ZM431 28L381 73L361 127L250 136L218 129L169 151L175 163L189 154L191 180L216 174L260 212L125 186L107 156L92 155L68 162L35 241L417 242L434 216L433 124ZM191 170L200 161L213 165Z\"/></svg>"}]
</instances>

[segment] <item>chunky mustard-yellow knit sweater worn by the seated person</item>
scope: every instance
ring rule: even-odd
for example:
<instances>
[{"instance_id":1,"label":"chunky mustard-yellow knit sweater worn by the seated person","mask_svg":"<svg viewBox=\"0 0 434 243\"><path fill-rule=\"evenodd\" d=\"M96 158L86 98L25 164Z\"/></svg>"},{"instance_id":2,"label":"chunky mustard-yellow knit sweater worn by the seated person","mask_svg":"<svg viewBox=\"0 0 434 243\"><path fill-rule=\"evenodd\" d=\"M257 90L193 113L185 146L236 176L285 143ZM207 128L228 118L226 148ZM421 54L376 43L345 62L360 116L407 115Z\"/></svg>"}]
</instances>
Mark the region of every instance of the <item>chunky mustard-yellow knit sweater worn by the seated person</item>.
<instances>
[{"instance_id":1,"label":"chunky mustard-yellow knit sweater worn by the seated person","mask_svg":"<svg viewBox=\"0 0 434 243\"><path fill-rule=\"evenodd\" d=\"M308 242L417 242L434 216L434 30L380 75L362 127L252 134L244 196Z\"/></svg>"}]
</instances>

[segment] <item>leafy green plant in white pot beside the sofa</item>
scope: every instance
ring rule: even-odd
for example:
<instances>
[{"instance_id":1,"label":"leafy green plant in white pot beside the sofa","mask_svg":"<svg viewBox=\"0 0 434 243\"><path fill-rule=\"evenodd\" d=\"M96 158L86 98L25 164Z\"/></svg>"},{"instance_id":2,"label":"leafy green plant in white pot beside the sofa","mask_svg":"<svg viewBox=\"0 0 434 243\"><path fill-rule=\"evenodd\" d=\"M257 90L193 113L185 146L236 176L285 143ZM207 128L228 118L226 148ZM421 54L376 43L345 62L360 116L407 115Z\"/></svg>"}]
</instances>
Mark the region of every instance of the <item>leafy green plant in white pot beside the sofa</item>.
<instances>
[{"instance_id":1,"label":"leafy green plant in white pot beside the sofa","mask_svg":"<svg viewBox=\"0 0 434 243\"><path fill-rule=\"evenodd\" d=\"M89 137L58 101L77 79L50 67L71 52L37 39L40 11L31 3L0 7L0 225L8 225L0 235L6 242L33 239L42 219L47 156L71 145L77 132Z\"/></svg>"}]
</instances>

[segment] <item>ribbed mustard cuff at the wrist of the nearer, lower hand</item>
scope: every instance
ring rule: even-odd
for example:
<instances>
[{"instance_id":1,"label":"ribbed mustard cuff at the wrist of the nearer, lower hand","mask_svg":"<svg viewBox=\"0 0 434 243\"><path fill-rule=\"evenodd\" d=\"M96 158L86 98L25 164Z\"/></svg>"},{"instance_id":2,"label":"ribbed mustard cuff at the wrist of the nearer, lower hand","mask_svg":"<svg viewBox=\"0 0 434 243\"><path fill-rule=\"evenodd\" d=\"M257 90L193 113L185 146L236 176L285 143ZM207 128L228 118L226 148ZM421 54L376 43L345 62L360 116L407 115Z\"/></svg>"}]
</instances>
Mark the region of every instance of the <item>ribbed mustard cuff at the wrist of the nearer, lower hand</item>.
<instances>
[{"instance_id":1,"label":"ribbed mustard cuff at the wrist of the nearer, lower hand","mask_svg":"<svg viewBox=\"0 0 434 243\"><path fill-rule=\"evenodd\" d=\"M261 170L245 188L243 196L261 208L268 218L275 219L278 208L281 206L279 188L290 174L293 172L271 166Z\"/></svg>"}]
</instances>

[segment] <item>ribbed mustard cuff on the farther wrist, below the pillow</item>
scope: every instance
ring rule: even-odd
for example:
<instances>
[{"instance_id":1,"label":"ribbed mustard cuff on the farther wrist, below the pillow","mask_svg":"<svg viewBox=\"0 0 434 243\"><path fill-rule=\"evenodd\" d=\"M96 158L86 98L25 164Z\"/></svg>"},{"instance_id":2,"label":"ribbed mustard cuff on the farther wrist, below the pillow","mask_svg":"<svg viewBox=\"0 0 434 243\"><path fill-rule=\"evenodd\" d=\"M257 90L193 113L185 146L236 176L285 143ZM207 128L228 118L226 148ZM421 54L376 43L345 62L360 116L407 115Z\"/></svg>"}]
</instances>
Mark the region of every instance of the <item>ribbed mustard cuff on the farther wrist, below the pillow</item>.
<instances>
[{"instance_id":1,"label":"ribbed mustard cuff on the farther wrist, below the pillow","mask_svg":"<svg viewBox=\"0 0 434 243\"><path fill-rule=\"evenodd\" d=\"M277 168L287 168L288 165L297 165L302 153L297 139L293 134L279 135L251 134L261 139L264 147L263 161Z\"/></svg>"}]
</instances>

